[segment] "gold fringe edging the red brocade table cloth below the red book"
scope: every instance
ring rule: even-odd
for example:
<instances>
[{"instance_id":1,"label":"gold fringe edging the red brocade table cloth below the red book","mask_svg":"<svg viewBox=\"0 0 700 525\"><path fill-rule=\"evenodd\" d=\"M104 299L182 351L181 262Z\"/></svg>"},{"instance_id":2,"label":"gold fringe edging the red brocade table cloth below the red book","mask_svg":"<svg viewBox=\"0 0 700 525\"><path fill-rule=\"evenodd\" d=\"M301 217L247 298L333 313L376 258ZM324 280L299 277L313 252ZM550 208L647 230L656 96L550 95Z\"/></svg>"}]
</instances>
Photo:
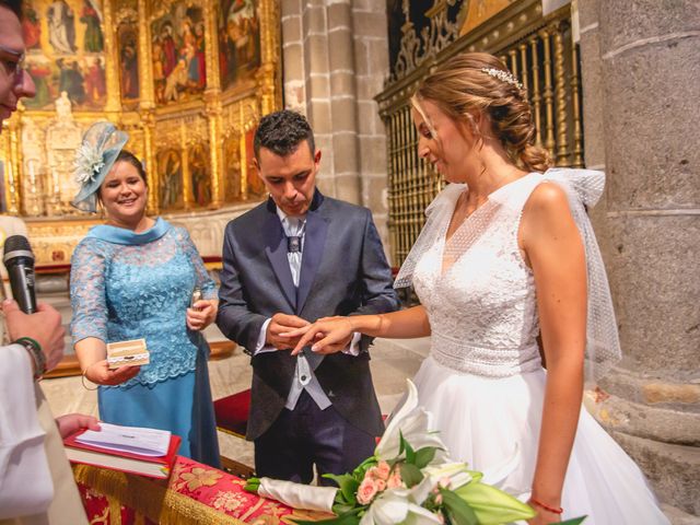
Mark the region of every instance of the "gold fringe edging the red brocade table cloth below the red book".
<instances>
[{"instance_id":1,"label":"gold fringe edging the red brocade table cloth below the red book","mask_svg":"<svg viewBox=\"0 0 700 525\"><path fill-rule=\"evenodd\" d=\"M107 497L112 524L121 523L121 512L118 505L117 511L113 511L115 502L112 499L155 523L168 525L243 525L245 523L170 490L156 480L90 465L73 466L73 475L77 482Z\"/></svg>"}]
</instances>

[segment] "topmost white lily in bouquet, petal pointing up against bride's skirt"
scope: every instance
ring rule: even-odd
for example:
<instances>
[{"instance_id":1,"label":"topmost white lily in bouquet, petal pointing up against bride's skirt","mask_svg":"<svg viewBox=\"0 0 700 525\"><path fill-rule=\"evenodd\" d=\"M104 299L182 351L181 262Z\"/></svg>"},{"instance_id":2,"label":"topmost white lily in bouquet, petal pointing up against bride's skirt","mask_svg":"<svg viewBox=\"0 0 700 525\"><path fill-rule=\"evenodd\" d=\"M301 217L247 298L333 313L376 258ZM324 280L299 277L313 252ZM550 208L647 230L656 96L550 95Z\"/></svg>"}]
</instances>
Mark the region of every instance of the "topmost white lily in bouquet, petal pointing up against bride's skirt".
<instances>
[{"instance_id":1,"label":"topmost white lily in bouquet, petal pointing up against bride's skirt","mask_svg":"<svg viewBox=\"0 0 700 525\"><path fill-rule=\"evenodd\" d=\"M400 434L411 445L415 451L425 446L440 448L431 462L440 463L445 457L445 444L436 432L431 432L428 428L428 412L418 406L418 390L410 380L406 380L408 394L404 405L396 411L388 427L384 431L382 440L376 445L374 454L378 459L395 459L398 457L400 447Z\"/></svg>"}]
</instances>

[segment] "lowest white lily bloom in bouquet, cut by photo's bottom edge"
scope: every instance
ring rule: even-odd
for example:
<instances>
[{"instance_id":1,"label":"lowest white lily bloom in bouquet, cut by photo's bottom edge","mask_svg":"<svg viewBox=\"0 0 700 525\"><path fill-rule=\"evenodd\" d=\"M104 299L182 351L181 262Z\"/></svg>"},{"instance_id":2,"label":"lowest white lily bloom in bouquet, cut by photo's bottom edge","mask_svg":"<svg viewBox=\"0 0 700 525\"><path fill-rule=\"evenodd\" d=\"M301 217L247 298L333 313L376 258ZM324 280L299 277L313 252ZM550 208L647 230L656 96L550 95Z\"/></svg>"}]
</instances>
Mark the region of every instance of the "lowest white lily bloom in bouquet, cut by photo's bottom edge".
<instances>
[{"instance_id":1,"label":"lowest white lily bloom in bouquet, cut by photo's bottom edge","mask_svg":"<svg viewBox=\"0 0 700 525\"><path fill-rule=\"evenodd\" d=\"M440 517L409 500L408 489L390 489L372 502L360 525L440 524Z\"/></svg>"}]
</instances>

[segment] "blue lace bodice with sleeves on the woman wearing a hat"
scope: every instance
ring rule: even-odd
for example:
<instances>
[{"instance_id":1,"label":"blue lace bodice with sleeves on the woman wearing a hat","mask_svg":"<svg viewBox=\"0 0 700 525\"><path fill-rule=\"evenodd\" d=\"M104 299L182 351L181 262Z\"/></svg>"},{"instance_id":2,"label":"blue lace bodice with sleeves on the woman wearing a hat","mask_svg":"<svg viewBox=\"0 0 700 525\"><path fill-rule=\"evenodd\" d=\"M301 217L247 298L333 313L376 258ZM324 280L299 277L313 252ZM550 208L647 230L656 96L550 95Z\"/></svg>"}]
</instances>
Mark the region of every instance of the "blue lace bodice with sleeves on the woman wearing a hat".
<instances>
[{"instance_id":1,"label":"blue lace bodice with sleeves on the woman wearing a hat","mask_svg":"<svg viewBox=\"0 0 700 525\"><path fill-rule=\"evenodd\" d=\"M104 228L104 226L103 226ZM73 343L145 338L151 362L120 385L154 384L195 370L198 335L185 323L195 287L217 290L187 232L167 225L159 238L126 245L94 236L75 248L71 268Z\"/></svg>"}]
</instances>

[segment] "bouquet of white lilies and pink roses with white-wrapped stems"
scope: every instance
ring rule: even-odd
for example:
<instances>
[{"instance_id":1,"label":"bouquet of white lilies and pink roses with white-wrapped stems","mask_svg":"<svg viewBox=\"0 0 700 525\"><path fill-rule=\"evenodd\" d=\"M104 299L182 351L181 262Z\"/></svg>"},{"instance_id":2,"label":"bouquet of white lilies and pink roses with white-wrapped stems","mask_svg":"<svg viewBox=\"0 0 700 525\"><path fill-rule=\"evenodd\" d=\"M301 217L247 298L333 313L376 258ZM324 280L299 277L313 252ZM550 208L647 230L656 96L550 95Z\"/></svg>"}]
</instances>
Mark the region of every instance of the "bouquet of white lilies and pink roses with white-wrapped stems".
<instances>
[{"instance_id":1,"label":"bouquet of white lilies and pink roses with white-wrapped stems","mask_svg":"<svg viewBox=\"0 0 700 525\"><path fill-rule=\"evenodd\" d=\"M374 455L351 474L326 475L338 488L269 478L252 478L245 488L296 509L336 514L320 522L298 522L303 525L500 525L535 516L530 506L490 485L516 459L498 469L501 476L485 476L451 462L438 433L428 430L428 412L418 406L418 392L408 381L406 401Z\"/></svg>"}]
</instances>

